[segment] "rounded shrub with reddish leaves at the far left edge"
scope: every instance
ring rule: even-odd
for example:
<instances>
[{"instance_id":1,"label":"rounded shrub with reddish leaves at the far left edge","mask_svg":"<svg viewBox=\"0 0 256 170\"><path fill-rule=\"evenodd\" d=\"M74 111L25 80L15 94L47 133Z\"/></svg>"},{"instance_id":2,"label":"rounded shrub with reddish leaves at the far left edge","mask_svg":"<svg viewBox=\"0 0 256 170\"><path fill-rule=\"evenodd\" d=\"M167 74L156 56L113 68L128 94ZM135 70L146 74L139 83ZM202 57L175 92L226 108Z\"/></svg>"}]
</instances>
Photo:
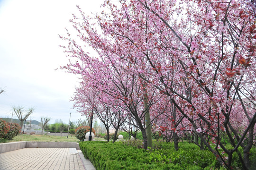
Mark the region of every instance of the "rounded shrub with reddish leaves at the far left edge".
<instances>
[{"instance_id":1,"label":"rounded shrub with reddish leaves at the far left edge","mask_svg":"<svg viewBox=\"0 0 256 170\"><path fill-rule=\"evenodd\" d=\"M20 126L17 123L9 123L0 119L0 137L12 140L20 132Z\"/></svg>"}]
</instances>

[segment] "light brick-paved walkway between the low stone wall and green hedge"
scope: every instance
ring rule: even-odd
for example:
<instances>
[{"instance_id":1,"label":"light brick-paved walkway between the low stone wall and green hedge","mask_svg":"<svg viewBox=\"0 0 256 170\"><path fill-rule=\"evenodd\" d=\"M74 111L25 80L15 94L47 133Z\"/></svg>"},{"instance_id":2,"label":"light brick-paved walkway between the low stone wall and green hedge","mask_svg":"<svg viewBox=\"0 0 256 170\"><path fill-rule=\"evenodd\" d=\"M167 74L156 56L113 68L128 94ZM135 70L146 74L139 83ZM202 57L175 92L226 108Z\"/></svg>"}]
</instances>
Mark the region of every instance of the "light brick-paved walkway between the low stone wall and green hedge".
<instances>
[{"instance_id":1,"label":"light brick-paved walkway between the low stone wall and green hedge","mask_svg":"<svg viewBox=\"0 0 256 170\"><path fill-rule=\"evenodd\" d=\"M0 153L0 170L95 170L75 148L24 148Z\"/></svg>"}]
</instances>

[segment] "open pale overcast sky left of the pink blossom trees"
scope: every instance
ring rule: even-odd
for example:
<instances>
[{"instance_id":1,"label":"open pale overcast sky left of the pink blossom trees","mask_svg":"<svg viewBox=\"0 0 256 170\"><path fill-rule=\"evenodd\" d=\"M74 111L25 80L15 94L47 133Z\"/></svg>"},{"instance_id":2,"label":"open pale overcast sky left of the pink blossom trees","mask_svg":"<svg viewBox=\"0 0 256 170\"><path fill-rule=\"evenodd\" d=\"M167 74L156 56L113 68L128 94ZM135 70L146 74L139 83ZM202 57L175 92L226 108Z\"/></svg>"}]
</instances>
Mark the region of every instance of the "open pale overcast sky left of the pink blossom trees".
<instances>
[{"instance_id":1,"label":"open pale overcast sky left of the pink blossom trees","mask_svg":"<svg viewBox=\"0 0 256 170\"><path fill-rule=\"evenodd\" d=\"M75 75L55 70L67 64L58 34L72 29L69 19L79 5L86 14L101 12L103 0L0 0L0 117L13 106L34 107L31 119L84 119L69 102ZM16 115L13 118L18 119ZM30 118L29 118L30 119Z\"/></svg>"}]
</instances>

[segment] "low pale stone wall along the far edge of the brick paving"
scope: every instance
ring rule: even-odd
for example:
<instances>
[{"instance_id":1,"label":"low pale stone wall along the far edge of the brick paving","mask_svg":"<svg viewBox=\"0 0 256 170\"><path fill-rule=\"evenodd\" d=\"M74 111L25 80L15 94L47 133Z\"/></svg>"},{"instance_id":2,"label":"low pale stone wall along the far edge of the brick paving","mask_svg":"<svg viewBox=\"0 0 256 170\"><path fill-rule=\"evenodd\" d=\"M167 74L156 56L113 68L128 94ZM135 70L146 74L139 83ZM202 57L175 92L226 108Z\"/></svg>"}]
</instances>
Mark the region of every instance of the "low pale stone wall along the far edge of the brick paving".
<instances>
[{"instance_id":1,"label":"low pale stone wall along the far edge of the brick paving","mask_svg":"<svg viewBox=\"0 0 256 170\"><path fill-rule=\"evenodd\" d=\"M76 148L80 150L76 142L10 142L0 144L0 153L15 151L23 148Z\"/></svg>"}]
</instances>

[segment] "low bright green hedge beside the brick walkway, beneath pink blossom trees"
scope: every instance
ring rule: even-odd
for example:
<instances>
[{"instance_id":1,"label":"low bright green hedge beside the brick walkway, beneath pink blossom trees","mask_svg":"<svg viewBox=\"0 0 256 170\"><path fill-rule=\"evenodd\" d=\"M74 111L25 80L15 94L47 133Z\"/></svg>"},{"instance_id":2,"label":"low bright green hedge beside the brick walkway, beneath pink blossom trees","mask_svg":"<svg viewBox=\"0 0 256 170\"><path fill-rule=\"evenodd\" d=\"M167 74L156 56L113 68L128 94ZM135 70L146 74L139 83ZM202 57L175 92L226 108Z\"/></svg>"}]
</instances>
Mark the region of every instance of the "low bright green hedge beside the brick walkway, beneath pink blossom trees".
<instances>
[{"instance_id":1,"label":"low bright green hedge beside the brick walkway, beneath pink blossom trees","mask_svg":"<svg viewBox=\"0 0 256 170\"><path fill-rule=\"evenodd\" d=\"M192 146L189 147L188 145ZM122 142L80 142L85 158L90 159L96 170L210 170L219 168L210 151L201 151L192 144L180 144L175 152L173 144L161 144L152 152L129 146ZM160 147L159 145L157 146Z\"/></svg>"}]
</instances>

